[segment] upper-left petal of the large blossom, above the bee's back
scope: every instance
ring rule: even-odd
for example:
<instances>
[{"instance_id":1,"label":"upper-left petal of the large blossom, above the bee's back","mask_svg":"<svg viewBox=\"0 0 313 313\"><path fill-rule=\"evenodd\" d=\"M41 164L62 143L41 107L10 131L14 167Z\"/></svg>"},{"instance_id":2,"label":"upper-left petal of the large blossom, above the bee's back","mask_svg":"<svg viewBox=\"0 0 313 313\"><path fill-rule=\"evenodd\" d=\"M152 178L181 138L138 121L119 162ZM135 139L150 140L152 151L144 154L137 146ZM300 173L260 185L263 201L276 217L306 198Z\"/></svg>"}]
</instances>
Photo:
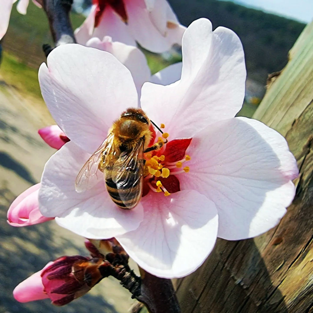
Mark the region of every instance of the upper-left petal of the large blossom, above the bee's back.
<instances>
[{"instance_id":1,"label":"upper-left petal of the large blossom, above the bee's back","mask_svg":"<svg viewBox=\"0 0 313 313\"><path fill-rule=\"evenodd\" d=\"M52 50L39 69L44 100L71 141L93 153L114 120L137 106L131 73L112 54L79 44Z\"/></svg>"}]
</instances>

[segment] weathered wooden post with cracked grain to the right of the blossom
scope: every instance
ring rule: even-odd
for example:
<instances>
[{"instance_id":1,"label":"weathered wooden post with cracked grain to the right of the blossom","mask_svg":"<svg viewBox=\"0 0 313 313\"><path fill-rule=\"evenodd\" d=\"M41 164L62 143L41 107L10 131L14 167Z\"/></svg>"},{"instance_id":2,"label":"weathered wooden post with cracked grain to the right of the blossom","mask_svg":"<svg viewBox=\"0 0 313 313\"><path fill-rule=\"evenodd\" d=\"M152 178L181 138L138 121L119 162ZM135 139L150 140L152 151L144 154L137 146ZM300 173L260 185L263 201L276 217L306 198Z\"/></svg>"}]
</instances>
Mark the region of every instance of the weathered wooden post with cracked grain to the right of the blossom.
<instances>
[{"instance_id":1,"label":"weathered wooden post with cracked grain to the right of the blossom","mask_svg":"<svg viewBox=\"0 0 313 313\"><path fill-rule=\"evenodd\" d=\"M300 169L296 197L269 232L218 239L206 262L177 282L182 313L313 312L313 23L289 59L254 118L288 141Z\"/></svg>"}]
</instances>

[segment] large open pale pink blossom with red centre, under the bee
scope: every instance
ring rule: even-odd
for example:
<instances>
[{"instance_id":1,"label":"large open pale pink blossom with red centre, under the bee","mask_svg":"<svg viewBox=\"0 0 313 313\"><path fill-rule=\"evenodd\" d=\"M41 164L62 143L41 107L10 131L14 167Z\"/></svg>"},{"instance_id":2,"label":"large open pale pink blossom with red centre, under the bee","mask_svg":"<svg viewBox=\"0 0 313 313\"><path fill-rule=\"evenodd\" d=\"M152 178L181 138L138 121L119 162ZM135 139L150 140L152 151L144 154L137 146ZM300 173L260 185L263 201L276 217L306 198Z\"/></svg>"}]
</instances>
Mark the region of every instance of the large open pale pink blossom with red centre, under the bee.
<instances>
[{"instance_id":1,"label":"large open pale pink blossom with red centre, under the bee","mask_svg":"<svg viewBox=\"0 0 313 313\"><path fill-rule=\"evenodd\" d=\"M180 80L141 90L141 108L165 124L168 143L145 156L150 175L131 210L111 201L103 175L93 176L90 190L75 191L77 174L113 121L138 104L131 73L112 54L77 44L54 49L39 69L44 100L71 140L45 165L41 213L89 239L115 237L139 266L165 278L197 269L217 236L246 239L277 225L298 175L283 136L234 117L246 78L238 36L212 31L201 18L184 33L182 55Z\"/></svg>"}]
</instances>

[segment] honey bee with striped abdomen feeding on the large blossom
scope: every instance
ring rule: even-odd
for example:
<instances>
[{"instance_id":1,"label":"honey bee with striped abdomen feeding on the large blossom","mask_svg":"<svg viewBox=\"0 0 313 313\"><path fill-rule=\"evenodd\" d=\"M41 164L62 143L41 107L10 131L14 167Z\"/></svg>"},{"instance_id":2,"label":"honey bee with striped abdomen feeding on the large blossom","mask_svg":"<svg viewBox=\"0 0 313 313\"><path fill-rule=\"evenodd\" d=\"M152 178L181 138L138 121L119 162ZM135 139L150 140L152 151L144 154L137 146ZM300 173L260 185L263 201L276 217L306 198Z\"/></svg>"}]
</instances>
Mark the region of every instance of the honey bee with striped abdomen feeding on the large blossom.
<instances>
[{"instance_id":1,"label":"honey bee with striped abdomen feeding on the large blossom","mask_svg":"<svg viewBox=\"0 0 313 313\"><path fill-rule=\"evenodd\" d=\"M106 189L113 202L123 209L134 208L142 194L143 154L160 149L167 142L159 141L148 147L150 123L141 109L129 108L123 112L113 123L105 141L78 173L75 190L83 192L92 188L97 181L91 177L97 176L99 169L104 174Z\"/></svg>"}]
</instances>

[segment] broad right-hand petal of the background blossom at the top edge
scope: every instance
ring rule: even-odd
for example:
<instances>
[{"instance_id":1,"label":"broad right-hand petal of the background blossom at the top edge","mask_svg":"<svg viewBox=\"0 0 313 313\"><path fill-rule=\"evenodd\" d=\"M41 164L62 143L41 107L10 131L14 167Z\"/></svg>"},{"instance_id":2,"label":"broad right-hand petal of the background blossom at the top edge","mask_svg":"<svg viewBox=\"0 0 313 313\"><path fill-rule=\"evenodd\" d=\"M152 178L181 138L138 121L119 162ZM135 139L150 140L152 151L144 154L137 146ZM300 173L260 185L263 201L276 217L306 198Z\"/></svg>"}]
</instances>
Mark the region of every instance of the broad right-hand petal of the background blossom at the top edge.
<instances>
[{"instance_id":1,"label":"broad right-hand petal of the background blossom at the top edge","mask_svg":"<svg viewBox=\"0 0 313 313\"><path fill-rule=\"evenodd\" d=\"M133 38L145 49L156 53L169 50L173 44L180 45L186 29L178 23L177 19L173 21L173 14L169 11L168 3L162 0L161 4L161 7L159 4L155 5L154 9L162 11L156 11L153 14L147 10L144 0L125 2L128 27ZM161 18L160 21L159 18ZM171 22L171 27L167 27L167 21Z\"/></svg>"}]
</instances>

